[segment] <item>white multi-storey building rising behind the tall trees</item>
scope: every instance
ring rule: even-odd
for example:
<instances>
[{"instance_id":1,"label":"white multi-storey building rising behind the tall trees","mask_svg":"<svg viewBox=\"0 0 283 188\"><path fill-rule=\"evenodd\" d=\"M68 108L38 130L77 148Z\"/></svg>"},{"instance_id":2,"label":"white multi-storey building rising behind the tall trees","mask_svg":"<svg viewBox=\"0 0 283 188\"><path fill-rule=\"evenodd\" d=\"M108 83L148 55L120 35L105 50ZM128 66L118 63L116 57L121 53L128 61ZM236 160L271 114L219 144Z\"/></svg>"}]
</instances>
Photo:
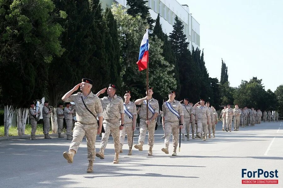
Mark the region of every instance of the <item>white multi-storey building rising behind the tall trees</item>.
<instances>
[{"instance_id":1,"label":"white multi-storey building rising behind the tall trees","mask_svg":"<svg viewBox=\"0 0 283 188\"><path fill-rule=\"evenodd\" d=\"M104 9L107 5L111 6L113 2L129 8L126 0L101 0L102 8ZM192 46L195 49L200 48L199 23L191 16L188 5L181 5L176 0L148 0L146 5L150 7L149 13L153 19L157 18L158 13L160 14L160 24L162 24L163 32L168 36L173 31L177 15L184 24L184 33L187 36L187 42L190 43L189 49L191 50Z\"/></svg>"}]
</instances>

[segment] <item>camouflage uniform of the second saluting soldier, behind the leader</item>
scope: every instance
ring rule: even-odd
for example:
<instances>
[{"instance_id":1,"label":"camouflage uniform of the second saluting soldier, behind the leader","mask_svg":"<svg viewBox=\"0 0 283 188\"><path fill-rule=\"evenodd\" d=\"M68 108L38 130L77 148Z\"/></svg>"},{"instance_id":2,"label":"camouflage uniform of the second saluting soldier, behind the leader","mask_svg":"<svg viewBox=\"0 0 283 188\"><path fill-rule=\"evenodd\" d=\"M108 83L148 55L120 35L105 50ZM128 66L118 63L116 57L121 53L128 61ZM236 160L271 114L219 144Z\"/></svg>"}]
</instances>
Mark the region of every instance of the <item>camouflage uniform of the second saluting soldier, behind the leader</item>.
<instances>
[{"instance_id":1,"label":"camouflage uniform of the second saluting soldier, behind the leader","mask_svg":"<svg viewBox=\"0 0 283 188\"><path fill-rule=\"evenodd\" d=\"M123 100L121 97L114 95L112 100L108 97L103 97L101 104L103 106L103 126L105 133L102 133L100 148L105 149L108 143L110 131L114 140L115 153L120 151L120 119L124 113Z\"/></svg>"}]
</instances>

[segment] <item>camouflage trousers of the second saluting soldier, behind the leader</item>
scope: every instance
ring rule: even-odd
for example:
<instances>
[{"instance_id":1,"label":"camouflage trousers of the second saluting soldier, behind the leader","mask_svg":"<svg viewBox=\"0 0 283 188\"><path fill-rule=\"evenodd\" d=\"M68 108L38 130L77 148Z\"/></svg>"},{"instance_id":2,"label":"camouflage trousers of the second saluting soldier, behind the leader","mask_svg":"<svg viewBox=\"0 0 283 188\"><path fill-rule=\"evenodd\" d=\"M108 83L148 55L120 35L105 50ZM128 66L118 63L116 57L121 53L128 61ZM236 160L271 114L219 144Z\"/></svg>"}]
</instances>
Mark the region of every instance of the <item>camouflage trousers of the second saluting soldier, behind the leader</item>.
<instances>
[{"instance_id":1,"label":"camouflage trousers of the second saluting soldier, behind the leader","mask_svg":"<svg viewBox=\"0 0 283 188\"><path fill-rule=\"evenodd\" d=\"M105 149L108 143L110 131L114 140L114 149L115 153L119 153L120 151L120 120L118 119L104 119L103 127L105 129L105 133L102 133L100 148Z\"/></svg>"}]
</instances>

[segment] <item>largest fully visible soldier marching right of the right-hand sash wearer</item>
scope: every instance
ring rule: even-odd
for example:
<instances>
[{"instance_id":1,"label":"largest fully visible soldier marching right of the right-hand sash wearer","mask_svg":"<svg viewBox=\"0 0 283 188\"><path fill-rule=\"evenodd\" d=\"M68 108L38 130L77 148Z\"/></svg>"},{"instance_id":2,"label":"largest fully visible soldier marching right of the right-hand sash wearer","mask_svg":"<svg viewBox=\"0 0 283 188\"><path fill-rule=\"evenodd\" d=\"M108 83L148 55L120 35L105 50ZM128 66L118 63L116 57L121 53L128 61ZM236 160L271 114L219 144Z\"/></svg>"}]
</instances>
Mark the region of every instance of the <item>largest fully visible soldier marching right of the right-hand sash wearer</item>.
<instances>
[{"instance_id":1,"label":"largest fully visible soldier marching right of the right-hand sash wearer","mask_svg":"<svg viewBox=\"0 0 283 188\"><path fill-rule=\"evenodd\" d=\"M208 107L204 106L204 100L200 100L200 106L196 107L196 121L197 121L197 138L203 138L205 140L208 127L208 119L210 118ZM202 133L200 133L200 131ZM203 135L203 137L201 137Z\"/></svg>"}]
</instances>

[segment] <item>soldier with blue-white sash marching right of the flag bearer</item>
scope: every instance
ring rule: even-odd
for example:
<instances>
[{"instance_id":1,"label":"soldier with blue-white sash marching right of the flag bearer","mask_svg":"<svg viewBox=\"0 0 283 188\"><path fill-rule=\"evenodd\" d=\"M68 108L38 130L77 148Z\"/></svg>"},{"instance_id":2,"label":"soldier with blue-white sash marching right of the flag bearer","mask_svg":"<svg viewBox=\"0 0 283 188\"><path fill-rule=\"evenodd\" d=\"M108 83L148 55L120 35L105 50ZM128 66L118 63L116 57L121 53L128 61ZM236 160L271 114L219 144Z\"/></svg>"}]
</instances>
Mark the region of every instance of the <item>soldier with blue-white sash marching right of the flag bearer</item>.
<instances>
[{"instance_id":1,"label":"soldier with blue-white sash marching right of the flag bearer","mask_svg":"<svg viewBox=\"0 0 283 188\"><path fill-rule=\"evenodd\" d=\"M179 131L181 131L184 122L184 113L182 105L179 101L175 100L176 92L170 91L168 94L169 100L162 105L162 126L165 132L164 144L165 148L161 150L165 154L169 154L169 141L171 133L173 132L173 154L177 155L177 146L179 141ZM179 122L180 121L180 122ZM187 137L188 138L188 137Z\"/></svg>"}]
</instances>

